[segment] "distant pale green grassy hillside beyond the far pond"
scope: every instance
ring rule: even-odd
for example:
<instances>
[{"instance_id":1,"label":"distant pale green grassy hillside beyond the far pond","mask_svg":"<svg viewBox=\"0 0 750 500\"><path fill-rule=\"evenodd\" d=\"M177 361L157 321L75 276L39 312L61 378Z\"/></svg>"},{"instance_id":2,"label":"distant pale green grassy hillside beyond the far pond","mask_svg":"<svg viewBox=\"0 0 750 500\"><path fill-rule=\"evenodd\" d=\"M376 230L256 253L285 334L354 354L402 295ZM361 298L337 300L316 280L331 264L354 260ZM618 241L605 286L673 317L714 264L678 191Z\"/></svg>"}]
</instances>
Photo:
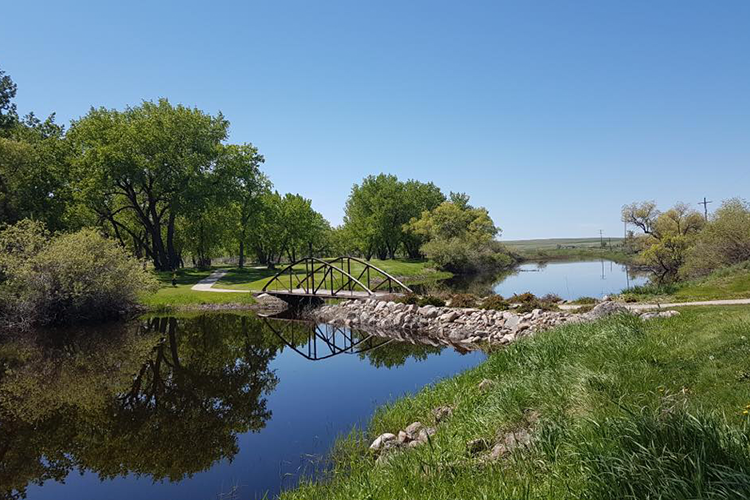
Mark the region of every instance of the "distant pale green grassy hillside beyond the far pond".
<instances>
[{"instance_id":1,"label":"distant pale green grassy hillside beyond the far pond","mask_svg":"<svg viewBox=\"0 0 750 500\"><path fill-rule=\"evenodd\" d=\"M615 262L632 262L634 255L623 247L622 238L605 238L602 247L599 238L548 238L537 240L511 240L503 244L523 260L586 260L607 259Z\"/></svg>"}]
</instances>

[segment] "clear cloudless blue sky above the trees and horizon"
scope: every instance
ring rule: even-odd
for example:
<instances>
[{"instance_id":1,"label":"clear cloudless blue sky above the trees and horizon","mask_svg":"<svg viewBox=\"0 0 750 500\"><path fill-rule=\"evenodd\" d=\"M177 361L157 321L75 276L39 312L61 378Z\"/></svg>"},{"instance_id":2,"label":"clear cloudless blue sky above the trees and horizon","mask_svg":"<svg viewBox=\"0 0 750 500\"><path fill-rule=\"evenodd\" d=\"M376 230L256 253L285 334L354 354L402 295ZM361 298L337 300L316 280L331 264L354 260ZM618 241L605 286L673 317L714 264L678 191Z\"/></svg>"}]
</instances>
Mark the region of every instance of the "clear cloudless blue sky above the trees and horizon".
<instances>
[{"instance_id":1,"label":"clear cloudless blue sky above the trees and horizon","mask_svg":"<svg viewBox=\"0 0 750 500\"><path fill-rule=\"evenodd\" d=\"M750 2L5 2L21 112L222 111L341 222L368 174L434 181L507 239L622 234L622 204L750 198ZM696 208L698 205L695 205ZM716 203L714 204L714 207Z\"/></svg>"}]
</instances>

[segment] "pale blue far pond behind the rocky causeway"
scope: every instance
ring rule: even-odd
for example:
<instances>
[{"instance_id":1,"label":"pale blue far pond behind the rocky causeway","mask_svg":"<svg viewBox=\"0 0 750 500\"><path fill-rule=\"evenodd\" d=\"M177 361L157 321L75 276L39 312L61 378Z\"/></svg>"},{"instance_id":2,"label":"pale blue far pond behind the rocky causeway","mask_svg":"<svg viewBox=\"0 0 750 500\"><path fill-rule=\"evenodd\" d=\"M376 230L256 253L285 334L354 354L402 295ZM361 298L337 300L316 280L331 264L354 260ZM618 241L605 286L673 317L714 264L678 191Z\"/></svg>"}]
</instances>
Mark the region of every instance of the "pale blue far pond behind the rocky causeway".
<instances>
[{"instance_id":1,"label":"pale blue far pond behind the rocky causeway","mask_svg":"<svg viewBox=\"0 0 750 500\"><path fill-rule=\"evenodd\" d=\"M447 286L478 295L494 292L510 297L524 292L537 296L554 293L563 299L573 300L579 297L601 298L647 281L645 275L634 272L624 264L596 260L525 263L500 276L459 278L449 280Z\"/></svg>"}]
</instances>

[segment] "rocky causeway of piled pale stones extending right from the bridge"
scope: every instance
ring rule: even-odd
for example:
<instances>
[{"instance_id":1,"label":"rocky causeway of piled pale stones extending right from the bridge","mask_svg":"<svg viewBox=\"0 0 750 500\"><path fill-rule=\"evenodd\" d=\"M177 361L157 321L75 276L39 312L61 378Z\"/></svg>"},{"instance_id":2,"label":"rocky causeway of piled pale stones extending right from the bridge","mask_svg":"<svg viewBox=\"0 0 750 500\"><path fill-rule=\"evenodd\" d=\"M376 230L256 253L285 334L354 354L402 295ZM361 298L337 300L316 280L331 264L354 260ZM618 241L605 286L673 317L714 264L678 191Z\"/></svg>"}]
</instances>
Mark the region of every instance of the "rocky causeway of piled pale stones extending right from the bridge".
<instances>
[{"instance_id":1,"label":"rocky causeway of piled pale stones extending right from the bridge","mask_svg":"<svg viewBox=\"0 0 750 500\"><path fill-rule=\"evenodd\" d=\"M566 323L593 321L610 314L632 312L616 302L600 302L591 311L534 309L521 313L513 309L494 311L474 308L418 306L383 300L350 300L311 310L311 319L338 326L387 332L406 331L441 343L466 348L507 345L518 338ZM668 317L677 311L643 313L646 320Z\"/></svg>"}]
</instances>

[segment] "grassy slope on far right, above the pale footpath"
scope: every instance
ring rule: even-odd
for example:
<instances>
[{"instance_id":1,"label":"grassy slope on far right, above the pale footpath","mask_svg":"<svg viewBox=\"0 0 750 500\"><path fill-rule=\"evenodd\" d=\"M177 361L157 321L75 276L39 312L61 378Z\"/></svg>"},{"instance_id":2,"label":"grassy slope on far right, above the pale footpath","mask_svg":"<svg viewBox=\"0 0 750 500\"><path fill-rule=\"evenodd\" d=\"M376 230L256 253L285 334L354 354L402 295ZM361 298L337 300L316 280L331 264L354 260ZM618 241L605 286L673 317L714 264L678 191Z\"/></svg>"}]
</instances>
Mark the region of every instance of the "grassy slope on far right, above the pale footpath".
<instances>
[{"instance_id":1,"label":"grassy slope on far right, above the pale footpath","mask_svg":"<svg viewBox=\"0 0 750 500\"><path fill-rule=\"evenodd\" d=\"M719 269L698 280L634 287L621 297L628 302L692 302L750 298L750 262Z\"/></svg>"}]
</instances>

